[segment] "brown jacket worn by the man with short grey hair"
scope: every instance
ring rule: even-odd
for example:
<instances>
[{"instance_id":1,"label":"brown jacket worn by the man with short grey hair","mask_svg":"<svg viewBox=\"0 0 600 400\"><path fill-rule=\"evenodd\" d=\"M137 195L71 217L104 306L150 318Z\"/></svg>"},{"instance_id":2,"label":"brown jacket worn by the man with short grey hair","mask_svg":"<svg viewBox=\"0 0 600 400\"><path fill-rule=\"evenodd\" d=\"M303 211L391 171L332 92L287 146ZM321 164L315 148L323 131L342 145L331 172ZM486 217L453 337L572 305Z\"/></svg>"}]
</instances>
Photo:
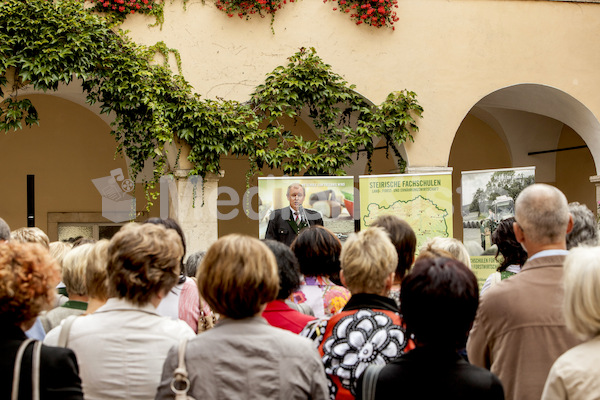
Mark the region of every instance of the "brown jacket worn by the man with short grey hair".
<instances>
[{"instance_id":1,"label":"brown jacket worn by the man with short grey hair","mask_svg":"<svg viewBox=\"0 0 600 400\"><path fill-rule=\"evenodd\" d=\"M581 342L562 315L564 259L527 261L481 299L467 343L469 361L500 378L507 400L539 400L554 361Z\"/></svg>"}]
</instances>

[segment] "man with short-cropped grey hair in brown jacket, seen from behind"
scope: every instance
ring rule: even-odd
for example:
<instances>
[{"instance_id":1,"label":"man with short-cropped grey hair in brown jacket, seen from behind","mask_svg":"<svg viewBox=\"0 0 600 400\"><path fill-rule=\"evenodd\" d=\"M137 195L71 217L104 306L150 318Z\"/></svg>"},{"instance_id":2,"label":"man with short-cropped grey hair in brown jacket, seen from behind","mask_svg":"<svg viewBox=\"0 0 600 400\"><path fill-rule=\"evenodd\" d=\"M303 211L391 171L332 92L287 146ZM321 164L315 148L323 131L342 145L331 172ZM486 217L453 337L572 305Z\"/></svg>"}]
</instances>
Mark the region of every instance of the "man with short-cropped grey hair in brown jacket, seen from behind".
<instances>
[{"instance_id":1,"label":"man with short-cropped grey hair in brown jacket, seen from behind","mask_svg":"<svg viewBox=\"0 0 600 400\"><path fill-rule=\"evenodd\" d=\"M538 400L554 361L580 343L561 311L573 218L560 190L535 184L517 198L515 220L515 236L529 258L519 274L481 299L467 354L500 378L507 400Z\"/></svg>"}]
</instances>

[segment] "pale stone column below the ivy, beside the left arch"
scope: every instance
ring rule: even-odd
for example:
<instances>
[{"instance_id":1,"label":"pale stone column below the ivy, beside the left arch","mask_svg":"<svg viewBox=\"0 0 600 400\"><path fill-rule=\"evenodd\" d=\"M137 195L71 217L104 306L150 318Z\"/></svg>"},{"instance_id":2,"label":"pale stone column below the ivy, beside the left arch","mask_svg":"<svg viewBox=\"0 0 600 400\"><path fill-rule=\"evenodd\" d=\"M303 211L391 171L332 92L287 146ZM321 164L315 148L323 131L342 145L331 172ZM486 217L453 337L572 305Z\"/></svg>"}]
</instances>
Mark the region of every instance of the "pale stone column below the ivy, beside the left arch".
<instances>
[{"instance_id":1,"label":"pale stone column below the ivy, beside the left arch","mask_svg":"<svg viewBox=\"0 0 600 400\"><path fill-rule=\"evenodd\" d=\"M161 178L161 218L179 223L185 234L187 253L207 250L218 238L217 196L219 178L188 176L189 170L175 170Z\"/></svg>"}]
</instances>

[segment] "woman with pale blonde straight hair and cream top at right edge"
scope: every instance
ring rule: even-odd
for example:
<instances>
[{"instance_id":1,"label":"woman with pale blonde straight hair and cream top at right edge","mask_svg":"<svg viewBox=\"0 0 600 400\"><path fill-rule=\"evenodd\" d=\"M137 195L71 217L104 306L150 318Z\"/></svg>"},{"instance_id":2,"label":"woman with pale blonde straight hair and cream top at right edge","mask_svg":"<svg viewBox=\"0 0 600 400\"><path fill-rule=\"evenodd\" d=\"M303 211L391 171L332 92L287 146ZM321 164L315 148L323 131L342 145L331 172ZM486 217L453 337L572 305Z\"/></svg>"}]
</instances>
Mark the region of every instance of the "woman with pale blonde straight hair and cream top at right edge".
<instances>
[{"instance_id":1,"label":"woman with pale blonde straight hair and cream top at right edge","mask_svg":"<svg viewBox=\"0 0 600 400\"><path fill-rule=\"evenodd\" d=\"M563 270L565 322L586 342L554 362L542 400L595 399L600 393L600 247L571 249Z\"/></svg>"}]
</instances>

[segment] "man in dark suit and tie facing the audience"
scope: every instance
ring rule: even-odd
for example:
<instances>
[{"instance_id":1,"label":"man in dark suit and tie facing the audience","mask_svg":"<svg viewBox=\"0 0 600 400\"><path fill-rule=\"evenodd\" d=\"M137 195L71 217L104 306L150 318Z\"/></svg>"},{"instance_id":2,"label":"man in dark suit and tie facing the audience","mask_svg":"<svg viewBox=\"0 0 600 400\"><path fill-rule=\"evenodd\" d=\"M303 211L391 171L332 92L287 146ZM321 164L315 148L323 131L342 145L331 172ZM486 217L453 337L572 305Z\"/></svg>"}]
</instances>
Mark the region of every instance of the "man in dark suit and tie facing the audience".
<instances>
[{"instance_id":1,"label":"man in dark suit and tie facing the audience","mask_svg":"<svg viewBox=\"0 0 600 400\"><path fill-rule=\"evenodd\" d=\"M290 202L289 207L280 208L271 213L265 239L291 245L298 232L312 225L323 225L321 213L302 207L306 192L299 183L288 186L286 197Z\"/></svg>"}]
</instances>

